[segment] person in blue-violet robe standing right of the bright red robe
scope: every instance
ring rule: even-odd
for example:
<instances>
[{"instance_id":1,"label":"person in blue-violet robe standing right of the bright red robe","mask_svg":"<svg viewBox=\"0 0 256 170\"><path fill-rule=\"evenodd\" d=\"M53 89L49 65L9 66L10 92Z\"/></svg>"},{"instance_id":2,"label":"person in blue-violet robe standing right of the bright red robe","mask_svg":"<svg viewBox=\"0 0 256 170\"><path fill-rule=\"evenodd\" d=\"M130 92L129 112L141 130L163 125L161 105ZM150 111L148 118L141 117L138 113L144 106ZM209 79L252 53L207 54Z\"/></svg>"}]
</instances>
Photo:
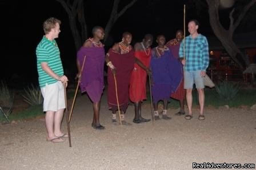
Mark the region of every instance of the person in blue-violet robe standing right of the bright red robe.
<instances>
[{"instance_id":1,"label":"person in blue-violet robe standing right of the bright red robe","mask_svg":"<svg viewBox=\"0 0 256 170\"><path fill-rule=\"evenodd\" d=\"M152 96L154 104L155 120L159 119L158 102L163 100L162 119L171 119L167 116L167 103L170 94L177 90L181 82L181 70L179 60L175 59L170 49L165 46L165 36L157 37L158 46L153 48L151 57L152 70Z\"/></svg>"}]
</instances>

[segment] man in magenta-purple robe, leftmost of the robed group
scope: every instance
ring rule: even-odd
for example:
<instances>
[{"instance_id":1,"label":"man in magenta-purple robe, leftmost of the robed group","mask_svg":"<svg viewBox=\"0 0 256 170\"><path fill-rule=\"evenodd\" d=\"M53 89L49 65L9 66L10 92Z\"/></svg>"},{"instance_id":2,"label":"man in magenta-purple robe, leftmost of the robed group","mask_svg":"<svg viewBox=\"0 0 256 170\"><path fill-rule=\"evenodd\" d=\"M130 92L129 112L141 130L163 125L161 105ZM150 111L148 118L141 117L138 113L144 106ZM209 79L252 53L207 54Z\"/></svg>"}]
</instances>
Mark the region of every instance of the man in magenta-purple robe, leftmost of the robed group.
<instances>
[{"instance_id":1,"label":"man in magenta-purple robe, leftmost of the robed group","mask_svg":"<svg viewBox=\"0 0 256 170\"><path fill-rule=\"evenodd\" d=\"M102 27L93 28L93 38L89 38L83 43L83 46L77 52L77 77L81 77L81 92L87 92L93 102L93 123L91 126L95 129L104 129L99 123L99 109L101 106L101 95L104 88L103 71L105 63L105 50L100 42L104 38ZM83 59L85 64L83 66Z\"/></svg>"}]
</instances>

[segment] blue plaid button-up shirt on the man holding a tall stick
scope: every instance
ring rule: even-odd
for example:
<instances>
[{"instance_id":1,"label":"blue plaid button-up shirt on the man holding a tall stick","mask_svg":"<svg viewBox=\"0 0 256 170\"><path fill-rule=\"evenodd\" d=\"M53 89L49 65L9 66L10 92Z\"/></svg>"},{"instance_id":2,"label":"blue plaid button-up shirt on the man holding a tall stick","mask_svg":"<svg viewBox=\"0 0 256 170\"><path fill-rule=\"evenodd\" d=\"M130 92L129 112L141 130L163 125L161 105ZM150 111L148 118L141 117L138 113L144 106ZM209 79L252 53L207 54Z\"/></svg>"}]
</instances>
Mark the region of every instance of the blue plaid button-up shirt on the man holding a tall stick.
<instances>
[{"instance_id":1,"label":"blue plaid button-up shirt on the man holding a tall stick","mask_svg":"<svg viewBox=\"0 0 256 170\"><path fill-rule=\"evenodd\" d=\"M183 57L183 41L179 47L180 58ZM209 66L209 47L206 37L199 34L193 39L189 35L186 37L185 42L185 71L206 71Z\"/></svg>"}]
</instances>

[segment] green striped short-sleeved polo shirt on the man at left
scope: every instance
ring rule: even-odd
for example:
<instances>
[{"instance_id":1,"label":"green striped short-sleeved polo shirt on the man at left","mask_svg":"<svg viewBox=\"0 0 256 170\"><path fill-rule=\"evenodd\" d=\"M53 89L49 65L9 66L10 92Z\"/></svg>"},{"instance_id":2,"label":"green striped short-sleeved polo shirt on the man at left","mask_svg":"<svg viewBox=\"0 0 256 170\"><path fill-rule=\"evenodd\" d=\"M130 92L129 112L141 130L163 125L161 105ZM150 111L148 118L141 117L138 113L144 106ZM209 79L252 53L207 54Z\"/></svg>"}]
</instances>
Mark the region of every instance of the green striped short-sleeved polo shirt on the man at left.
<instances>
[{"instance_id":1,"label":"green striped short-sleeved polo shirt on the man at left","mask_svg":"<svg viewBox=\"0 0 256 170\"><path fill-rule=\"evenodd\" d=\"M58 80L52 78L49 74L43 71L41 67L41 63L46 62L55 74L59 76L64 74L61 56L56 41L50 41L44 36L37 46L36 54L39 86L45 87L46 83L53 84L57 82Z\"/></svg>"}]
</instances>

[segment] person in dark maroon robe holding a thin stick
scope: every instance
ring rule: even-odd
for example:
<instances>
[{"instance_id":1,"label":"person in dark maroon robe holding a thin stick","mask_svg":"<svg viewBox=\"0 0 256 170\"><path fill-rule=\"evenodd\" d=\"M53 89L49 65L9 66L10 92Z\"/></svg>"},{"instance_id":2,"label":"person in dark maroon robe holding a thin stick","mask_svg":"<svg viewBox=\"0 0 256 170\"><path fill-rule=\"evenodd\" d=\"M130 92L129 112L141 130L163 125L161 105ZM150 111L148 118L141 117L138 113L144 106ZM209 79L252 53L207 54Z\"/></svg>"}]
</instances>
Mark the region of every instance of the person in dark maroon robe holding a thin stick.
<instances>
[{"instance_id":1,"label":"person in dark maroon robe holding a thin stick","mask_svg":"<svg viewBox=\"0 0 256 170\"><path fill-rule=\"evenodd\" d=\"M150 73L149 68L139 59L135 58L133 47L130 45L131 39L131 33L123 33L122 41L114 44L106 54L106 63L109 67L107 70L107 102L109 104L109 110L112 111L112 122L117 122L116 112L119 104L121 121L124 125L130 125L130 123L125 121L125 112L129 104L129 84L134 64L137 63L148 74ZM117 80L118 103L114 76Z\"/></svg>"}]
</instances>

